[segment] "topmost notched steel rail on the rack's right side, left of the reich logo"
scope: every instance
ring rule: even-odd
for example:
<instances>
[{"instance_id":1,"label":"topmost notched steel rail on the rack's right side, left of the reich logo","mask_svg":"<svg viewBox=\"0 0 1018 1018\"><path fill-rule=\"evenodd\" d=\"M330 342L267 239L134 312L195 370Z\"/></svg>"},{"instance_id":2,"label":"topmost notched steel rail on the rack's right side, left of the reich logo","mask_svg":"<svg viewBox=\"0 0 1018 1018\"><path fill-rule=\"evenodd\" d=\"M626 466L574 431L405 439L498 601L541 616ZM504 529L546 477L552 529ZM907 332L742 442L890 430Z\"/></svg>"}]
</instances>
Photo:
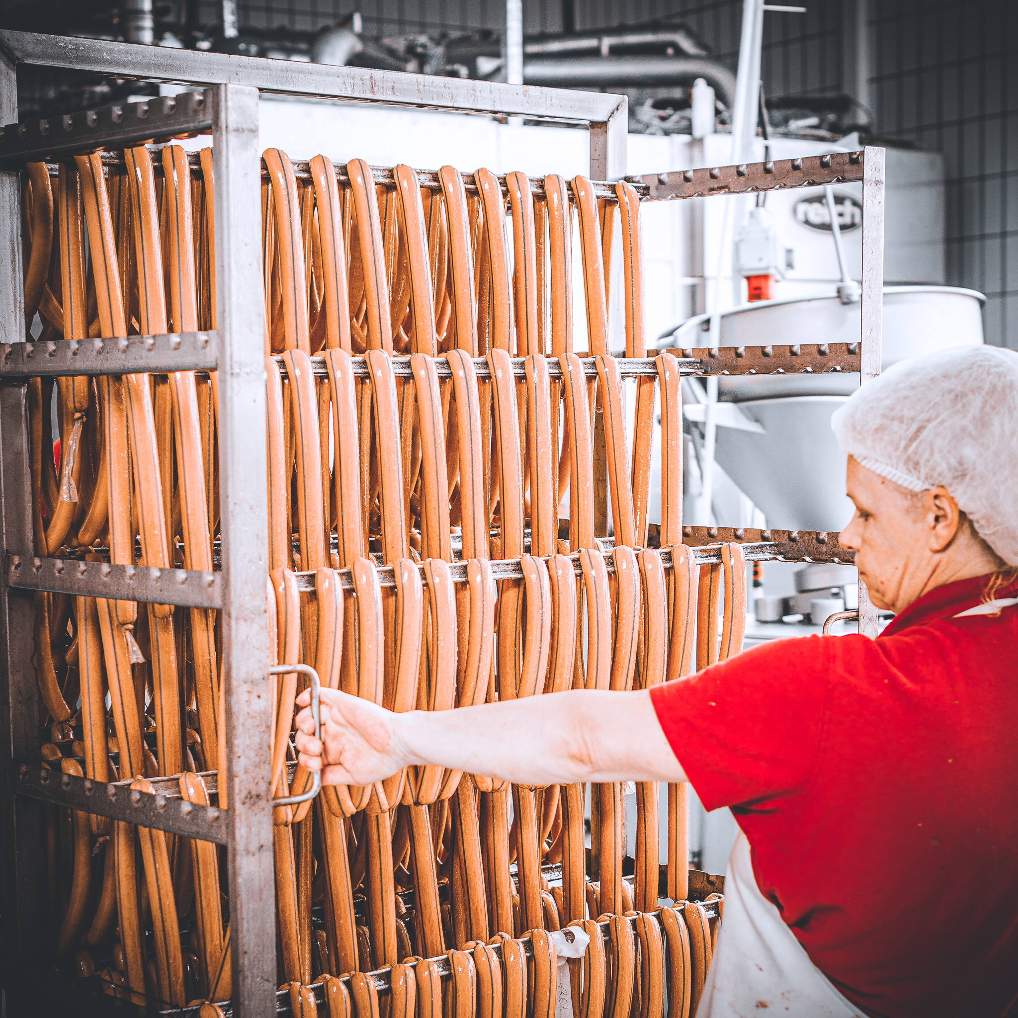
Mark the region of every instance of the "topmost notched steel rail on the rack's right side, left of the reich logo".
<instances>
[{"instance_id":1,"label":"topmost notched steel rail on the rack's right side, left of the reich logo","mask_svg":"<svg viewBox=\"0 0 1018 1018\"><path fill-rule=\"evenodd\" d=\"M828 156L779 159L769 163L644 173L632 179L634 183L649 186L652 202L670 197L747 194L750 191L774 190L778 187L807 187L861 180L865 159L874 158L867 157L864 153L883 151L866 148L862 152L836 152Z\"/></svg>"}]
</instances>

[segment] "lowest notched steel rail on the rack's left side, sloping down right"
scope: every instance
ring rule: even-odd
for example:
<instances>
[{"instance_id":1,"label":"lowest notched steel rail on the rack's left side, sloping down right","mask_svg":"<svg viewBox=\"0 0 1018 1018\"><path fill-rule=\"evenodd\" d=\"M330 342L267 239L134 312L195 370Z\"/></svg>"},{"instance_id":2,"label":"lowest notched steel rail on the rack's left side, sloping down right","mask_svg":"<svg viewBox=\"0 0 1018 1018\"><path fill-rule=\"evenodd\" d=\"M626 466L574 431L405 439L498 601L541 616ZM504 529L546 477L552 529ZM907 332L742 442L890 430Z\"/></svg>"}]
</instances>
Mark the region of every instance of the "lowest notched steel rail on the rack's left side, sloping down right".
<instances>
[{"instance_id":1,"label":"lowest notched steel rail on the rack's left side, sloping down right","mask_svg":"<svg viewBox=\"0 0 1018 1018\"><path fill-rule=\"evenodd\" d=\"M160 791L155 795L132 791L123 782L91 781L29 764L15 764L15 768L14 791L18 796L226 844L225 810L217 806L187 802L179 795L169 796Z\"/></svg>"}]
</instances>

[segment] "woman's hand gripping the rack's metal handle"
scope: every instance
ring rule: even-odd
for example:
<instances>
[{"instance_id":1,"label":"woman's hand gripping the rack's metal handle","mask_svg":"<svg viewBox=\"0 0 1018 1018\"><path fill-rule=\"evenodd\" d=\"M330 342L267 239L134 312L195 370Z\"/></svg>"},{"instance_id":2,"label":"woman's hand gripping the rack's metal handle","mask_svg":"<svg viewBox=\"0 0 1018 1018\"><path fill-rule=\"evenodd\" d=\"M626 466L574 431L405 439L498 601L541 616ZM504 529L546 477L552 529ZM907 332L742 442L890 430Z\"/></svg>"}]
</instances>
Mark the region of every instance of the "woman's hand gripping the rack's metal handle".
<instances>
[{"instance_id":1,"label":"woman's hand gripping the rack's metal handle","mask_svg":"<svg viewBox=\"0 0 1018 1018\"><path fill-rule=\"evenodd\" d=\"M297 697L303 708L296 720L297 758L307 771L321 771L323 784L371 785L414 762L399 747L399 715L338 689L323 689L319 741L315 738L310 698L309 689Z\"/></svg>"}]
</instances>

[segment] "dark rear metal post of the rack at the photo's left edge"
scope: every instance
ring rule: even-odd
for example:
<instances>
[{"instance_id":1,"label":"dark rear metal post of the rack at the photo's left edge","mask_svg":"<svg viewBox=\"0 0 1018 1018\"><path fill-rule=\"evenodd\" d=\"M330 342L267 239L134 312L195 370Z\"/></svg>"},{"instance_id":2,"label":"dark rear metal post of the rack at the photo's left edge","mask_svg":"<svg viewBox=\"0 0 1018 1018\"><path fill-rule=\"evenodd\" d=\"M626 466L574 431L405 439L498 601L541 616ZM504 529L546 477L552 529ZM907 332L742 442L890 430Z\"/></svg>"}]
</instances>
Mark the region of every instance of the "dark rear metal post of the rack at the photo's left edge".
<instances>
[{"instance_id":1,"label":"dark rear metal post of the rack at the photo's left edge","mask_svg":"<svg viewBox=\"0 0 1018 1018\"><path fill-rule=\"evenodd\" d=\"M0 54L0 119L17 120L17 74ZM0 172L0 338L24 340L19 175ZM27 387L0 384L0 519L3 552L31 557L32 477ZM14 795L15 760L39 758L39 687L33 668L34 598L0 577L0 955L13 962L38 948L45 900L38 803Z\"/></svg>"}]
</instances>

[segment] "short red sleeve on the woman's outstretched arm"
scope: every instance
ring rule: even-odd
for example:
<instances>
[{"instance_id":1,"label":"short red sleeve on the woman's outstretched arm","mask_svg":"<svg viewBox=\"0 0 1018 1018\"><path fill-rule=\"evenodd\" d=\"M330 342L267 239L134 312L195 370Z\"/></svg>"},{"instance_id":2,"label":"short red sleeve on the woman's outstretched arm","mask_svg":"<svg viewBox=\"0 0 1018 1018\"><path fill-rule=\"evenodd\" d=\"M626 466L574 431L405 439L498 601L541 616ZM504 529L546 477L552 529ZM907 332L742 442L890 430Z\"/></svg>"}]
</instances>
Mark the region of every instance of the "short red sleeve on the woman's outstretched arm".
<instances>
[{"instance_id":1,"label":"short red sleeve on the woman's outstretched arm","mask_svg":"<svg viewBox=\"0 0 1018 1018\"><path fill-rule=\"evenodd\" d=\"M704 808L761 808L803 788L837 638L775 640L652 688L658 721ZM780 808L769 802L767 810Z\"/></svg>"}]
</instances>

